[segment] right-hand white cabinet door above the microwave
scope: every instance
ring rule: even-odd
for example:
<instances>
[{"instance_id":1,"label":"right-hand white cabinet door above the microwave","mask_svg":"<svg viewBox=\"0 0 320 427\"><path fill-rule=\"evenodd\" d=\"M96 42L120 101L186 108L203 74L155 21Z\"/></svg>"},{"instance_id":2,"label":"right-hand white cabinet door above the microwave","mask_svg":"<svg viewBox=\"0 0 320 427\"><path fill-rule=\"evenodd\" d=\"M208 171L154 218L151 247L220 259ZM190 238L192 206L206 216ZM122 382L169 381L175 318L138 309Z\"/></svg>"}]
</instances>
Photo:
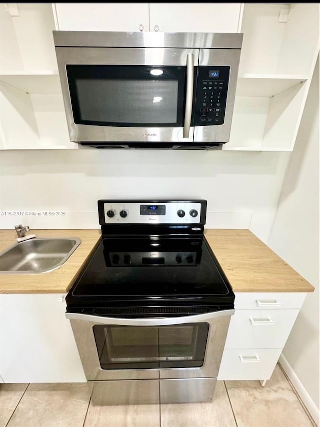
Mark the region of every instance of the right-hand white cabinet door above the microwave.
<instances>
[{"instance_id":1,"label":"right-hand white cabinet door above the microwave","mask_svg":"<svg viewBox=\"0 0 320 427\"><path fill-rule=\"evenodd\" d=\"M150 3L150 31L237 33L241 3Z\"/></svg>"}]
</instances>

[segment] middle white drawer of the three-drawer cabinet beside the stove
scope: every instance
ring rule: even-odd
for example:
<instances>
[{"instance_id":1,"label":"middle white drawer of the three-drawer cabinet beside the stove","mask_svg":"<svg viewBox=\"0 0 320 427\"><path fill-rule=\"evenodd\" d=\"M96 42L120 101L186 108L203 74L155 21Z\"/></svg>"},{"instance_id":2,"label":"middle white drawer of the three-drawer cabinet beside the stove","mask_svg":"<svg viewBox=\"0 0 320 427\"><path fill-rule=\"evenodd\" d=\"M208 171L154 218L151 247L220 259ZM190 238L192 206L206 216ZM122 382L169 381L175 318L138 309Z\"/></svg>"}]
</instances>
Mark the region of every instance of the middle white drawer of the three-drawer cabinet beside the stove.
<instances>
[{"instance_id":1,"label":"middle white drawer of the three-drawer cabinet beside the stove","mask_svg":"<svg viewBox=\"0 0 320 427\"><path fill-rule=\"evenodd\" d=\"M225 348L283 348L299 310L235 310Z\"/></svg>"}]
</instances>

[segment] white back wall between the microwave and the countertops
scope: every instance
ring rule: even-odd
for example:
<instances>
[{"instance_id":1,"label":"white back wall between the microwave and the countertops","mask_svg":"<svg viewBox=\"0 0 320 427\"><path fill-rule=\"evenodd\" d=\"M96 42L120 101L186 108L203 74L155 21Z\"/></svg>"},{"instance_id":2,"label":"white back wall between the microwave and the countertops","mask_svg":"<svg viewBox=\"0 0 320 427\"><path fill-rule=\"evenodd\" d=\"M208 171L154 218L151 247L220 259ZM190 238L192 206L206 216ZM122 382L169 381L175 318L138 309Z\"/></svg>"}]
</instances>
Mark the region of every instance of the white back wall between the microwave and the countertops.
<instances>
[{"instance_id":1,"label":"white back wall between the microwave and the countertops","mask_svg":"<svg viewBox=\"0 0 320 427\"><path fill-rule=\"evenodd\" d=\"M203 198L207 227L272 224L288 153L146 150L0 152L0 228L98 228L101 198ZM65 216L7 216L65 211Z\"/></svg>"}]
</instances>

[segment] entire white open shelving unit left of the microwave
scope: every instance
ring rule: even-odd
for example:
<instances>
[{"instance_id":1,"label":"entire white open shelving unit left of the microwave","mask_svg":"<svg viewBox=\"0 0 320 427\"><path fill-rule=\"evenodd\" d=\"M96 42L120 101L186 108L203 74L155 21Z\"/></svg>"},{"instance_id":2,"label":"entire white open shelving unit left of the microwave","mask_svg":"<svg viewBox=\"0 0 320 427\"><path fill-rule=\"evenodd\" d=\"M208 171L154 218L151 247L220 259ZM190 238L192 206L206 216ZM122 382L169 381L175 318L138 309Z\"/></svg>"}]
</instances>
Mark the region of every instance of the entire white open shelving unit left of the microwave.
<instances>
[{"instance_id":1,"label":"entire white open shelving unit left of the microwave","mask_svg":"<svg viewBox=\"0 0 320 427\"><path fill-rule=\"evenodd\" d=\"M51 3L0 4L0 148L77 148L70 142L52 30Z\"/></svg>"}]
</instances>

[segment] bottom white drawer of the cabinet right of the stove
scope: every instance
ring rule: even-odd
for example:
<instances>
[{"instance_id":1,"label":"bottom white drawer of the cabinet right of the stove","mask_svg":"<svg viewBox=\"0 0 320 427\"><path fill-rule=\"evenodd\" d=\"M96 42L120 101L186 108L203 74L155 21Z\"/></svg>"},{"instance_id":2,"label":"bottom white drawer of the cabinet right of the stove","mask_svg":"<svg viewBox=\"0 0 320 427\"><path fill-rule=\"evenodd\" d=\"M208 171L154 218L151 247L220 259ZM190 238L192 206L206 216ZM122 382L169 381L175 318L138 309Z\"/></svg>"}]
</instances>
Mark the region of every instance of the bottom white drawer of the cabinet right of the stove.
<instances>
[{"instance_id":1,"label":"bottom white drawer of the cabinet right of the stove","mask_svg":"<svg viewBox=\"0 0 320 427\"><path fill-rule=\"evenodd\" d=\"M218 380L270 379L281 349L224 350Z\"/></svg>"}]
</instances>

